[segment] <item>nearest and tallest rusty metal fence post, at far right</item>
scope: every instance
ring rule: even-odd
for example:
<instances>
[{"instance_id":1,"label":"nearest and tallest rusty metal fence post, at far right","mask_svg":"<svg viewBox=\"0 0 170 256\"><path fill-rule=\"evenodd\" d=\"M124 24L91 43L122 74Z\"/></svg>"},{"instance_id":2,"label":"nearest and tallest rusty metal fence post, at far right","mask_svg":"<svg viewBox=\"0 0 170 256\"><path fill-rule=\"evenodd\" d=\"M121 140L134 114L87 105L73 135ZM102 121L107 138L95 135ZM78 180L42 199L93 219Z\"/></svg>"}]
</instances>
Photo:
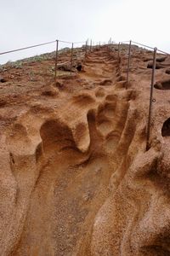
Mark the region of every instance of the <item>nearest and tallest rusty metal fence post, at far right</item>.
<instances>
[{"instance_id":1,"label":"nearest and tallest rusty metal fence post, at far right","mask_svg":"<svg viewBox=\"0 0 170 256\"><path fill-rule=\"evenodd\" d=\"M149 107L148 126L147 126L146 151L150 148L150 121L151 121L153 89L155 84L155 73L156 73L156 50L157 48L154 48L153 67L152 67L151 84L150 84L150 107Z\"/></svg>"}]
</instances>

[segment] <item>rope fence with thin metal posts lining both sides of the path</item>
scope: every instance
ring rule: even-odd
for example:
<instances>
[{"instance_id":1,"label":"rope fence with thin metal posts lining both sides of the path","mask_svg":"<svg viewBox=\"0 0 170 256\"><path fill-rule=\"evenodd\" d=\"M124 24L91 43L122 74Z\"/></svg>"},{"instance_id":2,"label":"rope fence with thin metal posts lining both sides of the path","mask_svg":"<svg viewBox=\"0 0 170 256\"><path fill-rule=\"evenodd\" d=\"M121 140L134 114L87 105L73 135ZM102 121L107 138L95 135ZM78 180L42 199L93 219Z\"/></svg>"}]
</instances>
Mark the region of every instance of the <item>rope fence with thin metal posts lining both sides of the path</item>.
<instances>
[{"instance_id":1,"label":"rope fence with thin metal posts lining both sides of the path","mask_svg":"<svg viewBox=\"0 0 170 256\"><path fill-rule=\"evenodd\" d=\"M139 45L141 47L144 47L145 49L151 49L153 51L153 65L152 65L152 73L151 73L151 83L150 83L150 104L149 104L149 114L148 114L148 124L147 124L147 134L146 134L146 150L148 150L150 148L150 123L151 123L151 115L152 115L152 103L155 102L153 99L153 90L154 90L154 84L155 84L155 75L156 75L156 54L157 52L160 52L163 55L170 55L169 53L161 50L161 49L157 49L157 48L153 48L149 45L146 44L140 44L138 42L134 42L132 40L130 41L122 41L119 42L116 45L116 49L112 47L113 42L111 41L111 39L108 41L108 44L102 44L101 42L99 42L99 44L94 45L94 42L92 41L92 39L90 40L90 44L87 41L83 41L83 42L67 42L67 41L63 41L63 40L54 40L54 41L50 41L47 43L43 43L43 44L35 44L35 45L31 45L31 46L27 46L27 47L23 47L20 49L12 49L12 50L8 50L5 52L0 53L0 55L6 55L9 53L14 53L20 50L25 50L25 49L31 49L31 48L36 48L36 47L40 47L43 45L47 45L47 44L56 44L56 48L55 48L55 71L54 71L54 82L56 83L56 79L57 79L57 72L58 72L58 67L65 65L67 63L70 62L70 70L72 73L72 67L73 67L73 55L74 55L74 46L76 44L85 44L85 54L84 54L84 58L86 59L87 55L88 55L88 51L89 52L93 52L94 49L99 49L103 46L107 46L108 50L115 50L117 51L117 67L120 67L120 62L121 62L121 50L122 50L122 44L128 44L128 52L127 52L127 79L126 79L126 90L128 89L128 85L129 85L129 73L130 73L130 65L131 65L131 58L132 58L132 46L134 45ZM70 60L69 61L65 61L63 63L59 63L59 43L62 44L71 44L71 56L70 56ZM127 49L127 48L126 48Z\"/></svg>"}]
</instances>

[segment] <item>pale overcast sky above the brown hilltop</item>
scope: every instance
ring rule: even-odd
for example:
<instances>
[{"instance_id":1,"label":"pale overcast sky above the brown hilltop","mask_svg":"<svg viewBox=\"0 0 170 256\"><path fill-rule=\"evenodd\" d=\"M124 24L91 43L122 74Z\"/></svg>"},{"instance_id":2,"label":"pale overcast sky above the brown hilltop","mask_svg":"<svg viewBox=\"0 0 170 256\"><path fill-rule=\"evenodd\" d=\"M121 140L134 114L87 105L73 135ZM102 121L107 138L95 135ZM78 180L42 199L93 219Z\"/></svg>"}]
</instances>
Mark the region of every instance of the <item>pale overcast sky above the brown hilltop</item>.
<instances>
[{"instance_id":1,"label":"pale overcast sky above the brown hilltop","mask_svg":"<svg viewBox=\"0 0 170 256\"><path fill-rule=\"evenodd\" d=\"M94 44L133 40L170 53L170 0L0 0L0 53L56 39ZM70 44L59 44L59 48ZM0 55L0 64L55 44Z\"/></svg>"}]
</instances>

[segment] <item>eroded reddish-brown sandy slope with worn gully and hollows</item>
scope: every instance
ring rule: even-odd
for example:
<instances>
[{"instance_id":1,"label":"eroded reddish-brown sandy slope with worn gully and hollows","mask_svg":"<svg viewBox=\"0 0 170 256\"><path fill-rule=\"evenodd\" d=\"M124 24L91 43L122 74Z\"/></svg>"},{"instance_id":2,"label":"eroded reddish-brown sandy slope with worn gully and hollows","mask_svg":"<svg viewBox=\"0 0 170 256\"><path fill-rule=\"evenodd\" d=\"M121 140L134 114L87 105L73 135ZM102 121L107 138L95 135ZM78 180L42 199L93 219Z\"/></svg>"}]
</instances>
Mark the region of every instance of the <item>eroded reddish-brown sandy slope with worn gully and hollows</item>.
<instances>
[{"instance_id":1,"label":"eroded reddish-brown sandy slope with worn gully and hollows","mask_svg":"<svg viewBox=\"0 0 170 256\"><path fill-rule=\"evenodd\" d=\"M0 73L1 256L170 255L170 58L145 151L152 54L132 52L128 90L127 49L56 84L53 60Z\"/></svg>"}]
</instances>

